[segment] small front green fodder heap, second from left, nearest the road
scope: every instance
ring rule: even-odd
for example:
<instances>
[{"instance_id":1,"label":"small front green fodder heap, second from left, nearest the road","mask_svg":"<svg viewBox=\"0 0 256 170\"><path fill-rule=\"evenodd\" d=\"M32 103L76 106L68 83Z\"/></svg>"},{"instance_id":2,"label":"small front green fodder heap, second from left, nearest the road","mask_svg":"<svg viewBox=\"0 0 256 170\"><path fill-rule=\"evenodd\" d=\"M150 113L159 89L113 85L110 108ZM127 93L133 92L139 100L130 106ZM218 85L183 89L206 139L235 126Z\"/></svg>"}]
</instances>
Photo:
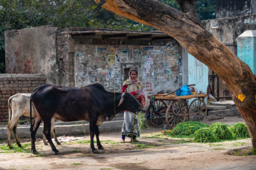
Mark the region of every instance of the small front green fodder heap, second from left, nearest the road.
<instances>
[{"instance_id":1,"label":"small front green fodder heap, second from left, nearest the road","mask_svg":"<svg viewBox=\"0 0 256 170\"><path fill-rule=\"evenodd\" d=\"M195 131L194 136L195 142L216 142L219 140L211 131L210 127L198 129Z\"/></svg>"}]
</instances>

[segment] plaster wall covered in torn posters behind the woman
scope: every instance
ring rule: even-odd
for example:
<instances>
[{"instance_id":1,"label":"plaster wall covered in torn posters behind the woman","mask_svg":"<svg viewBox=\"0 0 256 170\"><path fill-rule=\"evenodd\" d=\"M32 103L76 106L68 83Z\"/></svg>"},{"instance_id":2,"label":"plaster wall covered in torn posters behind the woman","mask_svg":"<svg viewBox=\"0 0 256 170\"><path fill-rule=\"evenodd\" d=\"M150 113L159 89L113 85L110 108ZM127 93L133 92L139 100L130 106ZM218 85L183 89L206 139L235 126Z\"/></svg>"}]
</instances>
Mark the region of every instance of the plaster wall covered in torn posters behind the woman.
<instances>
[{"instance_id":1,"label":"plaster wall covered in torn posters behind the woman","mask_svg":"<svg viewBox=\"0 0 256 170\"><path fill-rule=\"evenodd\" d=\"M75 45L76 87L99 82L120 92L125 67L138 67L146 95L179 87L182 59L179 45ZM180 76L180 78L179 78Z\"/></svg>"}]
</instances>

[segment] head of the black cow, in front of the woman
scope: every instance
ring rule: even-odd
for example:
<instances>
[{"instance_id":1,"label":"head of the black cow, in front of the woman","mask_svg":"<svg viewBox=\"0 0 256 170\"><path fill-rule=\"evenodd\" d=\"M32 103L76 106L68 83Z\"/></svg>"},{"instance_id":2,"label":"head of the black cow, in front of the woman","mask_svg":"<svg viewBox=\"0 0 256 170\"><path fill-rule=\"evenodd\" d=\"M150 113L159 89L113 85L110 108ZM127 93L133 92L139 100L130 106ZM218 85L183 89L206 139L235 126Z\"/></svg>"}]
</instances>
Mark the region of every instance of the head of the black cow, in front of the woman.
<instances>
[{"instance_id":1,"label":"head of the black cow, in front of the woman","mask_svg":"<svg viewBox=\"0 0 256 170\"><path fill-rule=\"evenodd\" d=\"M120 106L122 110L131 111L132 113L142 111L140 103L135 99L134 96L127 92L122 93L118 106Z\"/></svg>"}]
</instances>

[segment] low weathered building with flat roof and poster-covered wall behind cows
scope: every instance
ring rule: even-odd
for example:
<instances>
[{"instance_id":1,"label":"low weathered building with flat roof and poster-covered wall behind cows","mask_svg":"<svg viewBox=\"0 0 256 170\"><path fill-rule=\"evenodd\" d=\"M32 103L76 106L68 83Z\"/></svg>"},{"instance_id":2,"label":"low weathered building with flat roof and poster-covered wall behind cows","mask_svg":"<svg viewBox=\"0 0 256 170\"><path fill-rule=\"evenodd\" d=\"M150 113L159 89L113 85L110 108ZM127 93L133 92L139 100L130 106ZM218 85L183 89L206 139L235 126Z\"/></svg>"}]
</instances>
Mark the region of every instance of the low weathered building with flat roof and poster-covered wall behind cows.
<instances>
[{"instance_id":1,"label":"low weathered building with flat roof and poster-covered wall behind cows","mask_svg":"<svg viewBox=\"0 0 256 170\"><path fill-rule=\"evenodd\" d=\"M42 73L47 83L99 82L120 92L131 67L146 95L182 85L182 47L163 32L33 27L5 31L6 73Z\"/></svg>"}]
</instances>

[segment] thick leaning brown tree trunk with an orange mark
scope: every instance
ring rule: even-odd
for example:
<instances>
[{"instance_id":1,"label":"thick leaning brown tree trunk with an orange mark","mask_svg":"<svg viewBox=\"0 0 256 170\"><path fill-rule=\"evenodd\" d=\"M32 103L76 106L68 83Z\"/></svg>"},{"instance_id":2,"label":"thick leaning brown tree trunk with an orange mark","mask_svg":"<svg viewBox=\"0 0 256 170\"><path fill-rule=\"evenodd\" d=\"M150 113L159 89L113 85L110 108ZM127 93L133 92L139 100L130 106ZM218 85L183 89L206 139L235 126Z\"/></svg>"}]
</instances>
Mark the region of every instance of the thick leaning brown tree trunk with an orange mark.
<instances>
[{"instance_id":1,"label":"thick leaning brown tree trunk with an orange mark","mask_svg":"<svg viewBox=\"0 0 256 170\"><path fill-rule=\"evenodd\" d=\"M196 0L177 0L183 13L154 0L105 1L103 8L168 34L218 74L230 90L256 148L256 76L248 65L201 26L195 13ZM100 0L95 2L100 3Z\"/></svg>"}]
</instances>

